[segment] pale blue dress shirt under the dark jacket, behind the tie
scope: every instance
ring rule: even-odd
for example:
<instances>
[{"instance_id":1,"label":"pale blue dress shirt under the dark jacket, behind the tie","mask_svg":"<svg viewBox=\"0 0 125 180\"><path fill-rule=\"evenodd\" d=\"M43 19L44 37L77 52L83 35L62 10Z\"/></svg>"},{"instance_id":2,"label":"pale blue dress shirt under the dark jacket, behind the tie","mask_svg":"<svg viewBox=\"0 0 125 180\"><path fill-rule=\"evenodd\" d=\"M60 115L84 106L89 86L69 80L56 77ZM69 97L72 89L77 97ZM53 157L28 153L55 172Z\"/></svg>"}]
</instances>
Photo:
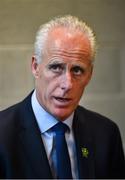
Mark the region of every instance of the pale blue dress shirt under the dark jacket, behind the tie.
<instances>
[{"instance_id":1,"label":"pale blue dress shirt under the dark jacket, behind the tie","mask_svg":"<svg viewBox=\"0 0 125 180\"><path fill-rule=\"evenodd\" d=\"M56 158L55 158L55 151L54 151L54 132L50 130L51 127L53 127L55 124L58 123L58 120L46 112L42 106L39 104L37 98L36 98L36 91L32 94L31 98L31 104L33 108L33 112L35 114L40 132L41 137L45 146L46 154L49 160L49 164L52 170L52 173L54 177L56 176L56 172L54 169L56 169ZM68 125L70 128L70 133L66 132L66 142L68 146L70 161L71 161L71 170L72 170L72 176L74 179L78 178L78 167L77 167L77 159L76 159L76 148L75 148L75 140L72 130L72 122L73 122L73 116L74 113L72 113L63 123Z\"/></svg>"}]
</instances>

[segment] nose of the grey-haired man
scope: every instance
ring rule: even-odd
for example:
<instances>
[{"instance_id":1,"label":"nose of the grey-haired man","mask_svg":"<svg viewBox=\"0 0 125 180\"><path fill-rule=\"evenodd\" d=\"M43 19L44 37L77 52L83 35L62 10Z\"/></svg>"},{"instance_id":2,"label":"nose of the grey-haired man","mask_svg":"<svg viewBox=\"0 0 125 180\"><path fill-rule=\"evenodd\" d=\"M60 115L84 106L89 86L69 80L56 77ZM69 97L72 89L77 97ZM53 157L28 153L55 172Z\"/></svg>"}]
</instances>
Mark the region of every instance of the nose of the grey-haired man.
<instances>
[{"instance_id":1,"label":"nose of the grey-haired man","mask_svg":"<svg viewBox=\"0 0 125 180\"><path fill-rule=\"evenodd\" d=\"M73 79L70 72L65 72L61 77L61 89L69 91L72 89Z\"/></svg>"}]
</instances>

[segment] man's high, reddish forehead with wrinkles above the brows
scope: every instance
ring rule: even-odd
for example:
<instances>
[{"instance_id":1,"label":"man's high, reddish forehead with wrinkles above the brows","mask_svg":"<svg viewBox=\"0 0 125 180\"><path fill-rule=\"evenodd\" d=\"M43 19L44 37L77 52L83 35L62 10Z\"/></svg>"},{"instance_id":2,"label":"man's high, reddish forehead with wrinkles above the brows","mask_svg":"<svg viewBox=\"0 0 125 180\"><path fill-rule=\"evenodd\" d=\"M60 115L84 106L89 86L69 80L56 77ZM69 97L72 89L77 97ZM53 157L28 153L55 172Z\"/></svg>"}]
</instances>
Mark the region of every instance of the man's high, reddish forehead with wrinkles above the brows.
<instances>
[{"instance_id":1,"label":"man's high, reddish forehead with wrinkles above the brows","mask_svg":"<svg viewBox=\"0 0 125 180\"><path fill-rule=\"evenodd\" d=\"M89 59L91 57L90 41L79 30L57 27L48 34L45 44L48 55L63 56L75 59Z\"/></svg>"}]
</instances>

